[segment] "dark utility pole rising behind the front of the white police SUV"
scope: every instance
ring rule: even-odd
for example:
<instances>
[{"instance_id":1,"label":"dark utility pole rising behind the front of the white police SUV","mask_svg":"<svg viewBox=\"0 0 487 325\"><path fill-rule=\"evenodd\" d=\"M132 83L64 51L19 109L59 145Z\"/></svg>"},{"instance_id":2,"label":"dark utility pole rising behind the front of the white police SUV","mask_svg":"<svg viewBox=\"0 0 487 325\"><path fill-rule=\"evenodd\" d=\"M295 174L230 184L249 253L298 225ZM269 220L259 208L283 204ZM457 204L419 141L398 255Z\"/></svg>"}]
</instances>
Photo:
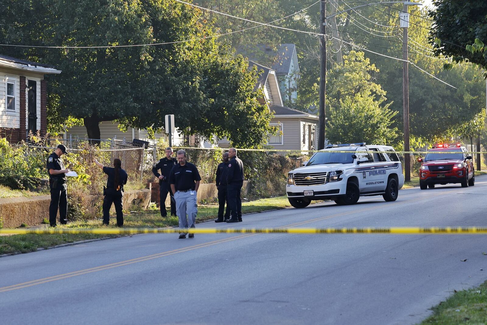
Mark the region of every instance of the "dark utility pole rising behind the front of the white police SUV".
<instances>
[{"instance_id":1,"label":"dark utility pole rising behind the front of the white police SUV","mask_svg":"<svg viewBox=\"0 0 487 325\"><path fill-rule=\"evenodd\" d=\"M321 0L319 14L319 107L318 107L318 150L325 148L325 95L326 95L326 0Z\"/></svg>"}]
</instances>

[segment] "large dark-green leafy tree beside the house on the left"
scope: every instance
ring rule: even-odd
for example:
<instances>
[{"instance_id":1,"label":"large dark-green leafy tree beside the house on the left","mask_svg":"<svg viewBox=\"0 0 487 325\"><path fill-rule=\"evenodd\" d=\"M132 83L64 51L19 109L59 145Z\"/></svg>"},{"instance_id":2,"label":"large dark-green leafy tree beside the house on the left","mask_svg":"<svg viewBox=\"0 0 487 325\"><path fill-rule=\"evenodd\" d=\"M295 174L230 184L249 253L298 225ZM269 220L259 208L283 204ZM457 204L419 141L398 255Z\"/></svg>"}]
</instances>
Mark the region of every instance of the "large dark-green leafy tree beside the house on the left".
<instances>
[{"instance_id":1,"label":"large dark-green leafy tree beside the house on the left","mask_svg":"<svg viewBox=\"0 0 487 325\"><path fill-rule=\"evenodd\" d=\"M247 146L273 130L253 89L256 71L248 71L229 46L198 40L213 35L199 9L170 0L84 0L75 7L60 0L9 0L0 8L0 36L10 44L137 45L6 49L63 71L49 76L48 112L58 121L83 119L90 138L100 137L101 121L157 130L165 114L175 114L189 134L223 134ZM139 46L168 42L176 43Z\"/></svg>"}]
</instances>

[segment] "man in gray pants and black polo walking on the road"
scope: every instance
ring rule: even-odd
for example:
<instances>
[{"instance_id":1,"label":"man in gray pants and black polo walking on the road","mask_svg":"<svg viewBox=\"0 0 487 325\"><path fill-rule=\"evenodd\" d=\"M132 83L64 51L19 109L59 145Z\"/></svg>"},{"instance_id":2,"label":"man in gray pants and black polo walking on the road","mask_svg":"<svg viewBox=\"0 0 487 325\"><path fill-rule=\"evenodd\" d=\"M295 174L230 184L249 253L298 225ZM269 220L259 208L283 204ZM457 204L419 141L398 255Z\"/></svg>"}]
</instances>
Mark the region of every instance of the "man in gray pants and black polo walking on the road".
<instances>
[{"instance_id":1,"label":"man in gray pants and black polo walking on the road","mask_svg":"<svg viewBox=\"0 0 487 325\"><path fill-rule=\"evenodd\" d=\"M179 228L195 228L197 203L196 195L200 187L200 173L196 166L186 161L186 152L179 150L176 154L178 164L169 174L169 184L176 200L176 214L179 219ZM187 216L186 216L187 215ZM189 233L189 238L194 234ZM180 233L179 239L186 238L186 233Z\"/></svg>"}]
</instances>

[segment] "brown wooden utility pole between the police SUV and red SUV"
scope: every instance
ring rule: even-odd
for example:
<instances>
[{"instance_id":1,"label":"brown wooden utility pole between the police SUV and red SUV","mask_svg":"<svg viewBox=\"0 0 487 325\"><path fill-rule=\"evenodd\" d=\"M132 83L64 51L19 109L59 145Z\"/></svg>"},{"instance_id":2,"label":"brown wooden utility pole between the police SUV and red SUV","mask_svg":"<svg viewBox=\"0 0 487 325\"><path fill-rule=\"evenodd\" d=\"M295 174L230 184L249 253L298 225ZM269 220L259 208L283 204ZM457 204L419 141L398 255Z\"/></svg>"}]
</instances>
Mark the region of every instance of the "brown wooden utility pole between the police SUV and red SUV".
<instances>
[{"instance_id":1,"label":"brown wooden utility pole between the police SUV and red SUV","mask_svg":"<svg viewBox=\"0 0 487 325\"><path fill-rule=\"evenodd\" d=\"M408 66L408 27L409 13L408 5L403 5L403 12L399 14L400 26L402 27L402 109L404 122L404 151L409 152L409 66ZM411 155L404 154L404 180L411 180Z\"/></svg>"}]
</instances>

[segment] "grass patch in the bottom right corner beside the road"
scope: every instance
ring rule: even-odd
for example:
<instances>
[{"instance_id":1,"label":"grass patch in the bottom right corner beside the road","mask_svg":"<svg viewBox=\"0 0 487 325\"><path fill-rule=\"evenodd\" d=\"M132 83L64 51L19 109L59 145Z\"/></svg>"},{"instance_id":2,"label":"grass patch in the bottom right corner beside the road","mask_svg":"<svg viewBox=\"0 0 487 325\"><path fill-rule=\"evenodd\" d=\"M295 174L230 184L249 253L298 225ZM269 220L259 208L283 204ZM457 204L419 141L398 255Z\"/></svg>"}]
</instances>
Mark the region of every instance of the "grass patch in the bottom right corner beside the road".
<instances>
[{"instance_id":1,"label":"grass patch in the bottom right corner beside the road","mask_svg":"<svg viewBox=\"0 0 487 325\"><path fill-rule=\"evenodd\" d=\"M487 324L487 281L455 292L431 310L433 314L420 325Z\"/></svg>"}]
</instances>

